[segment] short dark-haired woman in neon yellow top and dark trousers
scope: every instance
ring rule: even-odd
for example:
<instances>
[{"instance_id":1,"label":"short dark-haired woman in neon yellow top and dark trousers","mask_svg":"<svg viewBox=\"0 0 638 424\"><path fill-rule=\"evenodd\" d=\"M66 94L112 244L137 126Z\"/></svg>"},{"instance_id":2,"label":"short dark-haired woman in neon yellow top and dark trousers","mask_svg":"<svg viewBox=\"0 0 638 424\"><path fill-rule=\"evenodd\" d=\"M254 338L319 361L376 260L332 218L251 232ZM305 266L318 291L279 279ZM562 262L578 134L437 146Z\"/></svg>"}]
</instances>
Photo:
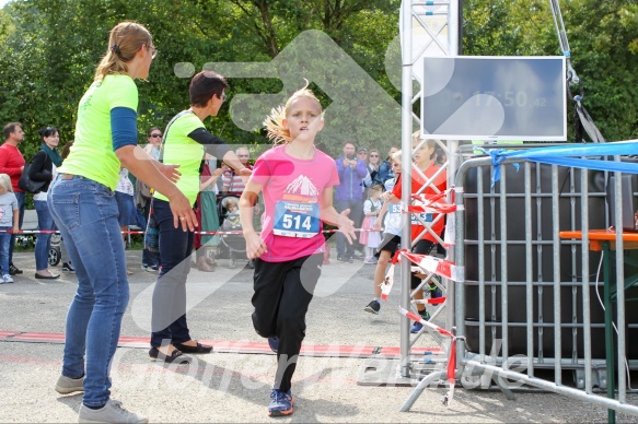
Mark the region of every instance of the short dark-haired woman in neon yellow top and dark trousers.
<instances>
[{"instance_id":1,"label":"short dark-haired woman in neon yellow top and dark trousers","mask_svg":"<svg viewBox=\"0 0 638 424\"><path fill-rule=\"evenodd\" d=\"M251 175L251 169L240 162L231 148L204 126L206 118L218 114L227 98L227 87L225 79L213 71L197 73L188 87L190 107L177 114L164 131L162 161L182 165L183 175L177 187L190 204L195 203L199 192L199 165L205 152L222 158L237 175ZM167 363L184 363L192 358L182 353L209 353L212 346L201 344L190 337L186 320L186 279L190 272L195 234L176 231L171 225L174 213L170 205L166 196L153 195L152 208L160 228L162 269L153 291L149 355Z\"/></svg>"}]
</instances>

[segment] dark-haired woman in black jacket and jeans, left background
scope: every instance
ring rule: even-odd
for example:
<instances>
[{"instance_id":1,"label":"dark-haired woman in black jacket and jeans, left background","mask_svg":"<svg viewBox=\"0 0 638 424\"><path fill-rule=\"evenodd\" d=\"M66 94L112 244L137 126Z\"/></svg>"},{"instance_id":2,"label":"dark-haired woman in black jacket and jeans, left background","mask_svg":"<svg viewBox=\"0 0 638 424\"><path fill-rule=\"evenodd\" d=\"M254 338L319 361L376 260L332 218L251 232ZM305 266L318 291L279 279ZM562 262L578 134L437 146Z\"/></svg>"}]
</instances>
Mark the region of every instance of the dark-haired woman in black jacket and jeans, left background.
<instances>
[{"instance_id":1,"label":"dark-haired woman in black jacket and jeans, left background","mask_svg":"<svg viewBox=\"0 0 638 424\"><path fill-rule=\"evenodd\" d=\"M62 164L62 157L58 153L57 146L60 143L58 129L47 127L39 130L42 138L42 149L33 156L28 178L34 181L44 181L40 191L33 195L33 203L37 212L37 228L39 231L56 229L54 217L47 205L47 192L49 184L56 176L57 167ZM48 270L49 249L51 245L51 233L39 233L35 242L35 278L42 280L55 280L59 274L54 274Z\"/></svg>"}]
</instances>

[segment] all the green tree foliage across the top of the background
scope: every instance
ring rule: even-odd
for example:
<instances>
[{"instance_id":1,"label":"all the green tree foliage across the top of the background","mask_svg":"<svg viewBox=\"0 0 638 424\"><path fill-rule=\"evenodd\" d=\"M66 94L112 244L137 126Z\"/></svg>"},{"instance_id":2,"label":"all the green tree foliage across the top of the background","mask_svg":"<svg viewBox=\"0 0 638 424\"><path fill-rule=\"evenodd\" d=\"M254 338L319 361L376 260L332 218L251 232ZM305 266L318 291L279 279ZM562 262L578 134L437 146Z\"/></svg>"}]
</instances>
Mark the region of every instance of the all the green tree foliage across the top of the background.
<instances>
[{"instance_id":1,"label":"all the green tree foliage across the top of the background","mask_svg":"<svg viewBox=\"0 0 638 424\"><path fill-rule=\"evenodd\" d=\"M548 1L462 3L464 55L560 54ZM0 120L24 123L25 156L39 145L38 128L54 125L60 128L62 142L72 139L77 104L105 52L108 31L124 20L144 24L160 50L149 81L138 85L140 142L146 141L147 128L164 127L188 106L189 79L176 76L177 63L193 63L196 70L206 63L268 63L309 30L327 34L399 101L385 69L388 46L398 34L399 4L398 0L14 0L0 11ZM564 0L561 7L583 104L607 140L636 138L638 0ZM344 90L357 89L359 82L343 84ZM281 90L276 78L234 76L229 95ZM320 96L324 105L333 101L325 93ZM344 139L382 149L396 142L357 122L357 110L337 119L340 128L351 127ZM234 125L228 105L207 125L233 143L266 142L260 130Z\"/></svg>"}]
</instances>

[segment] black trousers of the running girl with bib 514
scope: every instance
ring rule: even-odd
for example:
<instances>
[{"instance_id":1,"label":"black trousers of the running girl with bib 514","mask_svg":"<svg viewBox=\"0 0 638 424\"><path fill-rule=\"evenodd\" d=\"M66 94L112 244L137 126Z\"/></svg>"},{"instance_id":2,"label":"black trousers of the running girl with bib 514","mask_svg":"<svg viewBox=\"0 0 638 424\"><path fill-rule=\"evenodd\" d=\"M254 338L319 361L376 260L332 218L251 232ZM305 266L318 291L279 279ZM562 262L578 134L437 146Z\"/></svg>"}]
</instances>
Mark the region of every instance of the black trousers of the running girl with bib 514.
<instances>
[{"instance_id":1,"label":"black trousers of the running girl with bib 514","mask_svg":"<svg viewBox=\"0 0 638 424\"><path fill-rule=\"evenodd\" d=\"M321 276L323 260L323 254L287 262L255 260L253 326L264 338L279 338L276 389L290 390L301 342L305 338L305 314Z\"/></svg>"}]
</instances>

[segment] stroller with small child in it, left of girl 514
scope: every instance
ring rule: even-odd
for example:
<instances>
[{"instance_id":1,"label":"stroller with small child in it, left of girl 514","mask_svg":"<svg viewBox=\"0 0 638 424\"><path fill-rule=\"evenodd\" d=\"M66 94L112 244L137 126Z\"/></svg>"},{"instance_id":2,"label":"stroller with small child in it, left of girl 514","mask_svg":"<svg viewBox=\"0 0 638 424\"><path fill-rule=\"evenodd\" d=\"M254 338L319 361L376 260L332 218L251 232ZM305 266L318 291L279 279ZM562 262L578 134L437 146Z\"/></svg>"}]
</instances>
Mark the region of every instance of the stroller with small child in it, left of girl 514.
<instances>
[{"instance_id":1,"label":"stroller with small child in it, left of girl 514","mask_svg":"<svg viewBox=\"0 0 638 424\"><path fill-rule=\"evenodd\" d=\"M218 202L219 231L220 232L239 232L239 234L222 234L217 247L217 258L230 259L230 268L237 267L237 259L248 260L246 256L246 242L241 234L242 224L240 223L239 212L240 199L236 196L228 195ZM255 268L252 260L248 260L248 268Z\"/></svg>"}]
</instances>

